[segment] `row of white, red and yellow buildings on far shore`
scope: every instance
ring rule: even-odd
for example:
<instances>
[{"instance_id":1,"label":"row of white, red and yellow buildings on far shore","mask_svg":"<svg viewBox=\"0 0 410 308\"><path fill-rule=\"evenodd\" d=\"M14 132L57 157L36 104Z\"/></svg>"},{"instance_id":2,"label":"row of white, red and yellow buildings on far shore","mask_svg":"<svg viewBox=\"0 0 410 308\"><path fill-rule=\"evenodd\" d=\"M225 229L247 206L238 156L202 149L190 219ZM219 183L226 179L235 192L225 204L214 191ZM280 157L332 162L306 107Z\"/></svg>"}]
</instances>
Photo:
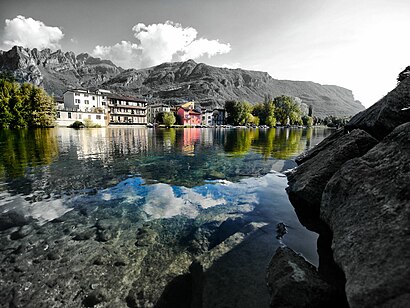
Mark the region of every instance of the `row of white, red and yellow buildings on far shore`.
<instances>
[{"instance_id":1,"label":"row of white, red and yellow buildings on far shore","mask_svg":"<svg viewBox=\"0 0 410 308\"><path fill-rule=\"evenodd\" d=\"M177 106L148 105L141 98L119 95L109 90L70 89L64 96L55 98L58 126L71 126L76 121L92 121L105 127L109 125L154 125L160 113L177 114L177 124L183 126L215 126L226 123L225 109L196 108L195 102Z\"/></svg>"}]
</instances>

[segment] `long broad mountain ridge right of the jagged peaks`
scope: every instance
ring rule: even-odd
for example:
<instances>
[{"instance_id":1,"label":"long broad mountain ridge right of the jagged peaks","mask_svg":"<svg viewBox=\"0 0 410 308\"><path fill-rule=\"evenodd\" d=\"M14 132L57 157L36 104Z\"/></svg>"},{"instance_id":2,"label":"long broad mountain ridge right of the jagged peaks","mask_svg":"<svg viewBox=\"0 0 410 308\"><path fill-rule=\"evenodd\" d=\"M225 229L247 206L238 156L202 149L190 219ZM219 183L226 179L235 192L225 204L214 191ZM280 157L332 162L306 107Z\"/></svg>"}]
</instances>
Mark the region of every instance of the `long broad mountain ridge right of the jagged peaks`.
<instances>
[{"instance_id":1,"label":"long broad mountain ridge right of the jagged peaks","mask_svg":"<svg viewBox=\"0 0 410 308\"><path fill-rule=\"evenodd\" d=\"M364 107L350 90L310 81L277 80L266 72L212 67L192 60L126 70L104 83L107 88L138 91L160 99L188 99L201 105L223 106L226 100L261 102L266 94L297 96L313 105L315 115L349 116Z\"/></svg>"}]
</instances>

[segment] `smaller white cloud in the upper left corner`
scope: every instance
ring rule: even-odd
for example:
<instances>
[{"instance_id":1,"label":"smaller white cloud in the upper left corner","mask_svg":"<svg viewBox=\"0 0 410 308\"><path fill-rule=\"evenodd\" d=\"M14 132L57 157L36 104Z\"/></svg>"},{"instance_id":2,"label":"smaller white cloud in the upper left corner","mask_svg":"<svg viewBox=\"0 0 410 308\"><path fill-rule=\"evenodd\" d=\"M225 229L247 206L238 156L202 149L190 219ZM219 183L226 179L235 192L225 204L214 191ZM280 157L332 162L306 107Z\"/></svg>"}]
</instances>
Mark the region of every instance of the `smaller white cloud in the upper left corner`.
<instances>
[{"instance_id":1,"label":"smaller white cloud in the upper left corner","mask_svg":"<svg viewBox=\"0 0 410 308\"><path fill-rule=\"evenodd\" d=\"M42 21L31 17L18 15L13 19L6 19L5 23L3 45L6 48L18 45L55 50L60 48L59 42L64 37L60 28L46 26Z\"/></svg>"}]
</instances>

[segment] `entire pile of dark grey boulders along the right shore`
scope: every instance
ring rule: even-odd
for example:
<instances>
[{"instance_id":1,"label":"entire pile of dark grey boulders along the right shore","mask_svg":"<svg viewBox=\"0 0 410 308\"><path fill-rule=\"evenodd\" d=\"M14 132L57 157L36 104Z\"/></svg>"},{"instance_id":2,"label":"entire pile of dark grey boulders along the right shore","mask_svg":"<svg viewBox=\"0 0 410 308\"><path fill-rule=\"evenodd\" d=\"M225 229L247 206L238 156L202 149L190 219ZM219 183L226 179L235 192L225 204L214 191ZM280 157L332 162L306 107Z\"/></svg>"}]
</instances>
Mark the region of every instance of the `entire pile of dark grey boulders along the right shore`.
<instances>
[{"instance_id":1,"label":"entire pile of dark grey boulders along the right shore","mask_svg":"<svg viewBox=\"0 0 410 308\"><path fill-rule=\"evenodd\" d=\"M410 306L409 72L287 174L299 220L319 233L319 267L279 248L272 307Z\"/></svg>"}]
</instances>

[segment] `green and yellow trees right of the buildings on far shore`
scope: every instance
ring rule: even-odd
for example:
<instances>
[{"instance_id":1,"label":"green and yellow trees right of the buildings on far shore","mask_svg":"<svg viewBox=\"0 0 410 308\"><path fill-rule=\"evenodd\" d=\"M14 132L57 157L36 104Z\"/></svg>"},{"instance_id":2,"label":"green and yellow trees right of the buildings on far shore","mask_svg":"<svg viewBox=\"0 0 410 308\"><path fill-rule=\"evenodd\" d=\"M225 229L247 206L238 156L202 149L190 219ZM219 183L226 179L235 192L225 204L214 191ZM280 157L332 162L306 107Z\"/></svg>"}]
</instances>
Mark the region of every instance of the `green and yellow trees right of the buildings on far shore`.
<instances>
[{"instance_id":1,"label":"green and yellow trees right of the buildings on far shore","mask_svg":"<svg viewBox=\"0 0 410 308\"><path fill-rule=\"evenodd\" d=\"M263 103L227 101L227 123L231 125L313 125L313 107L290 96L265 97ZM306 107L306 108L304 108Z\"/></svg>"}]
</instances>

